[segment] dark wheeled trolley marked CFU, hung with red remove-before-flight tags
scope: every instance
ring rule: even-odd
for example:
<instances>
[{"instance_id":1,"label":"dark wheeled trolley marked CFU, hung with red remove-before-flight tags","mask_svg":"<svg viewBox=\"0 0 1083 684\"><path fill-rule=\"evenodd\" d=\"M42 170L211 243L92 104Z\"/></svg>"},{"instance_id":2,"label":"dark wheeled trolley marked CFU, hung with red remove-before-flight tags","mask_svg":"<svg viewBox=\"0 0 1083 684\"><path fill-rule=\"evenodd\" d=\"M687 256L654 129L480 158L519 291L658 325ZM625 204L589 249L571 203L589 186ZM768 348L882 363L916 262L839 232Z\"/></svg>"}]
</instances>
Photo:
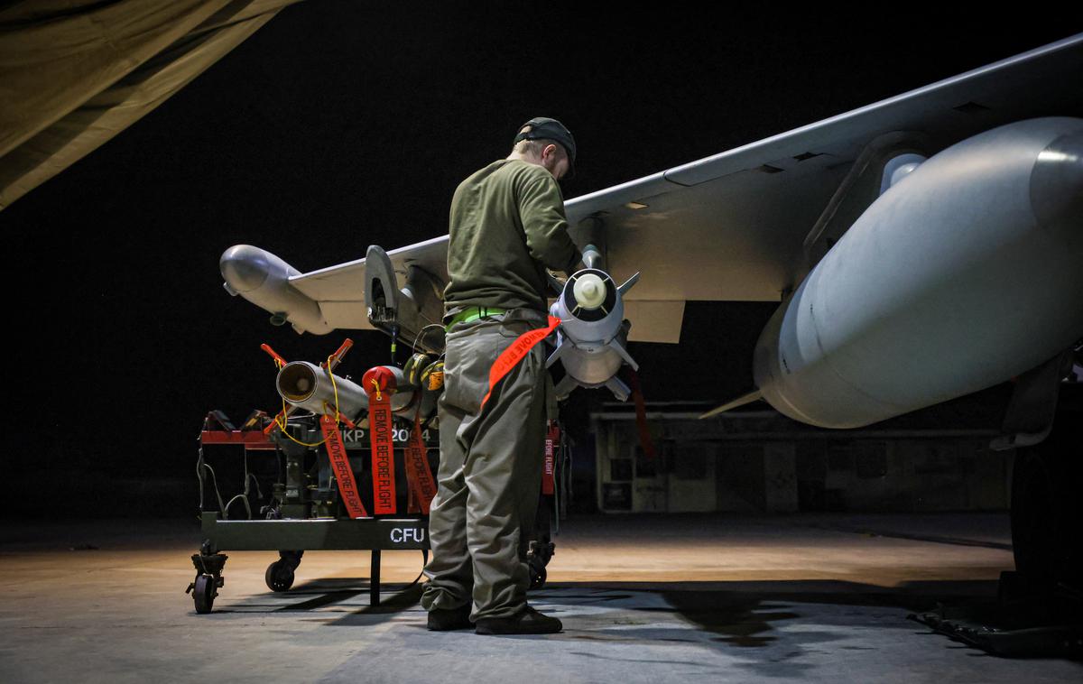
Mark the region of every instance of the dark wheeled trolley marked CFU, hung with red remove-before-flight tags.
<instances>
[{"instance_id":1,"label":"dark wheeled trolley marked CFU, hung with red remove-before-flight tags","mask_svg":"<svg viewBox=\"0 0 1083 684\"><path fill-rule=\"evenodd\" d=\"M295 398L308 394L309 406L318 412L297 410L305 404L301 400L273 419L256 411L240 429L220 411L204 420L197 462L204 542L192 556L196 577L187 589L197 613L212 609L218 589L224 584L227 556L222 551L278 551L278 560L265 574L268 587L276 592L290 589L306 550L371 551L371 605L380 602L382 550L421 550L428 558L427 515L435 494L432 474L439 436L427 419L440 391L439 361L415 355L406 365L407 370L416 370L416 381L423 372L426 389L407 384L399 368L370 369L366 379L382 384L374 384L380 391L367 397L358 385L330 370L350 344L348 340L319 366L286 364L264 345L279 367L279 393ZM306 384L310 391L302 392L300 387ZM322 398L325 386L329 402ZM391 409L397 410L392 415ZM219 476L208 462L206 447L211 445L244 450L243 490L229 501L222 498ZM253 453L273 456L274 465L268 469L270 459L264 458L262 472L253 472L260 470L251 468ZM260 479L269 476L273 483L264 499ZM403 482L407 486L396 489L395 483ZM253 504L257 497L259 503ZM245 516L230 519L237 504L243 505Z\"/></svg>"}]
</instances>

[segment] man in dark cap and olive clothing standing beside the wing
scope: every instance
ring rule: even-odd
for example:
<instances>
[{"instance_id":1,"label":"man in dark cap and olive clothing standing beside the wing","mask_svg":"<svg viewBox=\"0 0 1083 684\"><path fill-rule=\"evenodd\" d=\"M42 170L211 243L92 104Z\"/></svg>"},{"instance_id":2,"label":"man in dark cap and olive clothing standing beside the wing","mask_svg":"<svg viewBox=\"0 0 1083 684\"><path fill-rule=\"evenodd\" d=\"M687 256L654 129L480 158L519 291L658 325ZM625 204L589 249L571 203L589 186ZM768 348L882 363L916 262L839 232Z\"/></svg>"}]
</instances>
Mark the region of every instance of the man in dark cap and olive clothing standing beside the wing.
<instances>
[{"instance_id":1,"label":"man in dark cap and olive clothing standing beside the wing","mask_svg":"<svg viewBox=\"0 0 1083 684\"><path fill-rule=\"evenodd\" d=\"M482 400L497 356L547 325L546 267L571 274L582 259L557 184L574 165L567 129L554 119L531 119L511 155L470 175L452 199L439 486L421 596L430 630L561 630L560 620L526 605L530 573L522 561L538 505L552 391L544 345L492 387L484 407Z\"/></svg>"}]
</instances>

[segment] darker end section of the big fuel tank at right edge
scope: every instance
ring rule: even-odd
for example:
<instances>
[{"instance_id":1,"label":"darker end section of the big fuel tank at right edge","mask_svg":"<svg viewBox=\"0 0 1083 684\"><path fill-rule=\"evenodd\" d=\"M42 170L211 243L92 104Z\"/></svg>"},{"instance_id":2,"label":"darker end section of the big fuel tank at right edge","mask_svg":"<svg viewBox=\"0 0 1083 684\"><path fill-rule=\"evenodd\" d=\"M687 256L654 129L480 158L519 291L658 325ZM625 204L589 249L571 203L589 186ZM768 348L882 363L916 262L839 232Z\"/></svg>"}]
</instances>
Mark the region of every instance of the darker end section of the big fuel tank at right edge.
<instances>
[{"instance_id":1,"label":"darker end section of the big fuel tank at right edge","mask_svg":"<svg viewBox=\"0 0 1083 684\"><path fill-rule=\"evenodd\" d=\"M1083 246L1083 129L1039 153L1030 174L1030 203L1043 228L1070 247Z\"/></svg>"}]
</instances>

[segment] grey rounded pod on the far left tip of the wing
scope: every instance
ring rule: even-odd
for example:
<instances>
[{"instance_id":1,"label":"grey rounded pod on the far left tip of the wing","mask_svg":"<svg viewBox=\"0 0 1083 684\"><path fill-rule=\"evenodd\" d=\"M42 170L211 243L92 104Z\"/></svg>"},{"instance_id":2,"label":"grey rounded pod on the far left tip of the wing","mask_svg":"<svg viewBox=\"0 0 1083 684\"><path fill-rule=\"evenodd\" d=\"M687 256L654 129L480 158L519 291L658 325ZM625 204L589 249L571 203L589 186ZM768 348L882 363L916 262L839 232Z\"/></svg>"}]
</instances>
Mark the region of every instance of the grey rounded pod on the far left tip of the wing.
<instances>
[{"instance_id":1,"label":"grey rounded pod on the far left tip of the wing","mask_svg":"<svg viewBox=\"0 0 1083 684\"><path fill-rule=\"evenodd\" d=\"M280 326L289 321L298 332L314 334L334 329L324 320L319 304L289 284L290 277L301 272L271 252L234 245L222 254L219 268L225 291L271 312L271 323Z\"/></svg>"}]
</instances>

